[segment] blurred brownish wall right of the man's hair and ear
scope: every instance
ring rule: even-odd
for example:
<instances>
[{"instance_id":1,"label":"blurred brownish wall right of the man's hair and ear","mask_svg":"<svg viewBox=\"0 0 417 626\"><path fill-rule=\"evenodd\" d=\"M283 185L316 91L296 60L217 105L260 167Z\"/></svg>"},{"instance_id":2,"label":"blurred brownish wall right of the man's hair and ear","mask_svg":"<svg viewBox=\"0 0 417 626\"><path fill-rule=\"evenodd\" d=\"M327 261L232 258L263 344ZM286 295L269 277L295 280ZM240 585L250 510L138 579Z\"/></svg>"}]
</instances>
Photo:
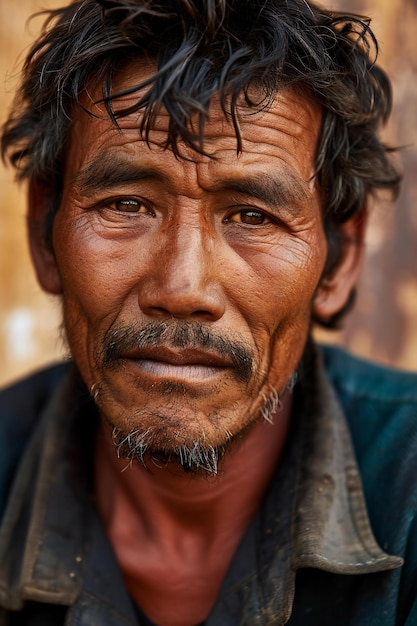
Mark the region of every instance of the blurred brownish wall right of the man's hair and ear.
<instances>
[{"instance_id":1,"label":"blurred brownish wall right of the man's hair and ear","mask_svg":"<svg viewBox=\"0 0 417 626\"><path fill-rule=\"evenodd\" d=\"M404 172L395 205L380 203L372 210L359 300L337 340L359 354L417 370L417 2L326 4L373 18L381 44L380 64L394 91L394 112L385 137L391 145L402 146Z\"/></svg>"}]
</instances>

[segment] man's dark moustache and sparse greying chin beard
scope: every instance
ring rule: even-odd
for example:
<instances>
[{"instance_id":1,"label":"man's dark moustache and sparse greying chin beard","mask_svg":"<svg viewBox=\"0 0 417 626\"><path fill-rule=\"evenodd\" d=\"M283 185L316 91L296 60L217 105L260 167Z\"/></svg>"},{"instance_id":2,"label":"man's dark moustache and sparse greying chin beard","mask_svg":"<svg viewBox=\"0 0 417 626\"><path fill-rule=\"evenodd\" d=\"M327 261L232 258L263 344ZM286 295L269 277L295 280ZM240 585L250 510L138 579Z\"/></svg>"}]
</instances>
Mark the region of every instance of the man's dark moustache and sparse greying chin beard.
<instances>
[{"instance_id":1,"label":"man's dark moustache and sparse greying chin beard","mask_svg":"<svg viewBox=\"0 0 417 626\"><path fill-rule=\"evenodd\" d=\"M113 369L123 366L123 355L128 350L135 348L148 348L150 346L168 346L174 348L199 348L211 350L213 353L225 355L233 364L232 375L239 382L248 385L255 369L255 359L250 346L242 340L228 333L226 336L214 334L198 322L181 322L178 320L152 322L146 326L127 326L111 328L105 334L101 350L96 353L97 368L103 375ZM291 393L296 380L293 374L286 385ZM137 383L139 388L140 383ZM159 383L159 389L167 398L180 397L183 401L188 398L188 409L192 410L192 390L180 382L165 381ZM259 393L260 406L256 414L251 416L246 426L238 432L230 432L223 424L221 410L211 416L206 416L210 435L203 426L195 426L187 432L186 422L181 418L180 412L173 411L173 419L170 424L158 412L152 413L148 408L127 409L123 415L118 415L113 420L106 416L106 411L100 411L102 416L107 417L113 427L113 443L116 447L117 456L126 459L129 463L138 462L151 469L165 467L174 464L181 467L185 472L198 475L216 475L219 471L219 463L226 454L239 445L246 433L256 424L265 420L273 424L276 416L283 408L281 391L269 387ZM146 388L143 393L146 394ZM100 383L94 383L90 387L90 395L100 407L105 405L106 391ZM255 398L254 398L255 399ZM163 408L166 408L164 406ZM175 409L175 405L173 407ZM153 409L155 411L155 409ZM163 411L163 409L162 409ZM117 425L116 425L117 424ZM134 425L129 430L122 424ZM214 429L214 430L213 430ZM214 435L213 435L214 433ZM213 445L213 441L216 442ZM210 443L211 442L211 443Z\"/></svg>"}]
</instances>

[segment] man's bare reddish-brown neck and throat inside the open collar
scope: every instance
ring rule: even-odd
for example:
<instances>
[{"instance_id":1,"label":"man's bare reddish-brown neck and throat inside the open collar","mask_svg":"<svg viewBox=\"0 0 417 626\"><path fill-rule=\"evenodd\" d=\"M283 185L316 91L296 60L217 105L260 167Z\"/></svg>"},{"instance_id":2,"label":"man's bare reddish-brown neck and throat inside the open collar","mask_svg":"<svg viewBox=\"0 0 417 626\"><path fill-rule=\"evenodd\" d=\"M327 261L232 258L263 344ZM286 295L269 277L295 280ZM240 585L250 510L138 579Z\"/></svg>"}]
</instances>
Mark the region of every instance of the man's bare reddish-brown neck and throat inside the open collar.
<instances>
[{"instance_id":1,"label":"man's bare reddish-brown neck and throat inside the open collar","mask_svg":"<svg viewBox=\"0 0 417 626\"><path fill-rule=\"evenodd\" d=\"M237 545L260 508L287 438L290 412L286 394L273 423L255 424L226 453L219 474L207 477L188 474L173 463L146 468L118 459L111 429L103 421L95 457L99 513L130 593L155 623L175 626L155 607L162 599L168 609L177 598L182 601L181 581L192 617L181 615L178 623L205 619ZM204 581L198 586L201 563ZM199 590L194 611L190 585Z\"/></svg>"}]
</instances>

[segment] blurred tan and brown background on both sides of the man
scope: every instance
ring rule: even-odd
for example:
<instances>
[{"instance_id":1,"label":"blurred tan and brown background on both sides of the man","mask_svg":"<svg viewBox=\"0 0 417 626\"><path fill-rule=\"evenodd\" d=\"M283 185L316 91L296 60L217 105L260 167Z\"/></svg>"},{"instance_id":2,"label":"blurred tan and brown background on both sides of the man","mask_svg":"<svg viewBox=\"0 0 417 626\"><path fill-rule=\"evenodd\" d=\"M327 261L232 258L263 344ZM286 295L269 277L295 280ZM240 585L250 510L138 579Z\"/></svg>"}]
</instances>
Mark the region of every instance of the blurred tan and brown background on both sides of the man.
<instances>
[{"instance_id":1,"label":"blurred tan and brown background on both sides of the man","mask_svg":"<svg viewBox=\"0 0 417 626\"><path fill-rule=\"evenodd\" d=\"M0 123L11 105L24 51L42 18L28 17L65 0L0 0ZM385 140L402 146L404 184L392 205L372 208L366 269L355 311L326 342L381 363L417 371L417 0L326 0L321 4L372 17L379 62L391 77L394 114ZM43 294L25 234L25 188L0 166L0 386L65 354L60 307Z\"/></svg>"}]
</instances>

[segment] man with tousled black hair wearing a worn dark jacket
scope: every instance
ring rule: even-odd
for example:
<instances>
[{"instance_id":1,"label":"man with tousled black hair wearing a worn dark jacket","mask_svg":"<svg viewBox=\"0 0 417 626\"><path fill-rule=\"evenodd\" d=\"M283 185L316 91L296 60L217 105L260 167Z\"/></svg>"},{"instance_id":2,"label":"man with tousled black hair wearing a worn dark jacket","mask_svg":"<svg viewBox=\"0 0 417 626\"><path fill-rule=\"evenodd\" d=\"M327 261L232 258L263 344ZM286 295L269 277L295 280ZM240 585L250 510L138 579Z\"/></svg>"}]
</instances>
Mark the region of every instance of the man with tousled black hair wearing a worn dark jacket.
<instances>
[{"instance_id":1,"label":"man with tousled black hair wearing a worn dark jacket","mask_svg":"<svg viewBox=\"0 0 417 626\"><path fill-rule=\"evenodd\" d=\"M310 337L399 183L375 47L304 0L50 13L2 146L73 364L1 397L2 624L417 624L416 379Z\"/></svg>"}]
</instances>

